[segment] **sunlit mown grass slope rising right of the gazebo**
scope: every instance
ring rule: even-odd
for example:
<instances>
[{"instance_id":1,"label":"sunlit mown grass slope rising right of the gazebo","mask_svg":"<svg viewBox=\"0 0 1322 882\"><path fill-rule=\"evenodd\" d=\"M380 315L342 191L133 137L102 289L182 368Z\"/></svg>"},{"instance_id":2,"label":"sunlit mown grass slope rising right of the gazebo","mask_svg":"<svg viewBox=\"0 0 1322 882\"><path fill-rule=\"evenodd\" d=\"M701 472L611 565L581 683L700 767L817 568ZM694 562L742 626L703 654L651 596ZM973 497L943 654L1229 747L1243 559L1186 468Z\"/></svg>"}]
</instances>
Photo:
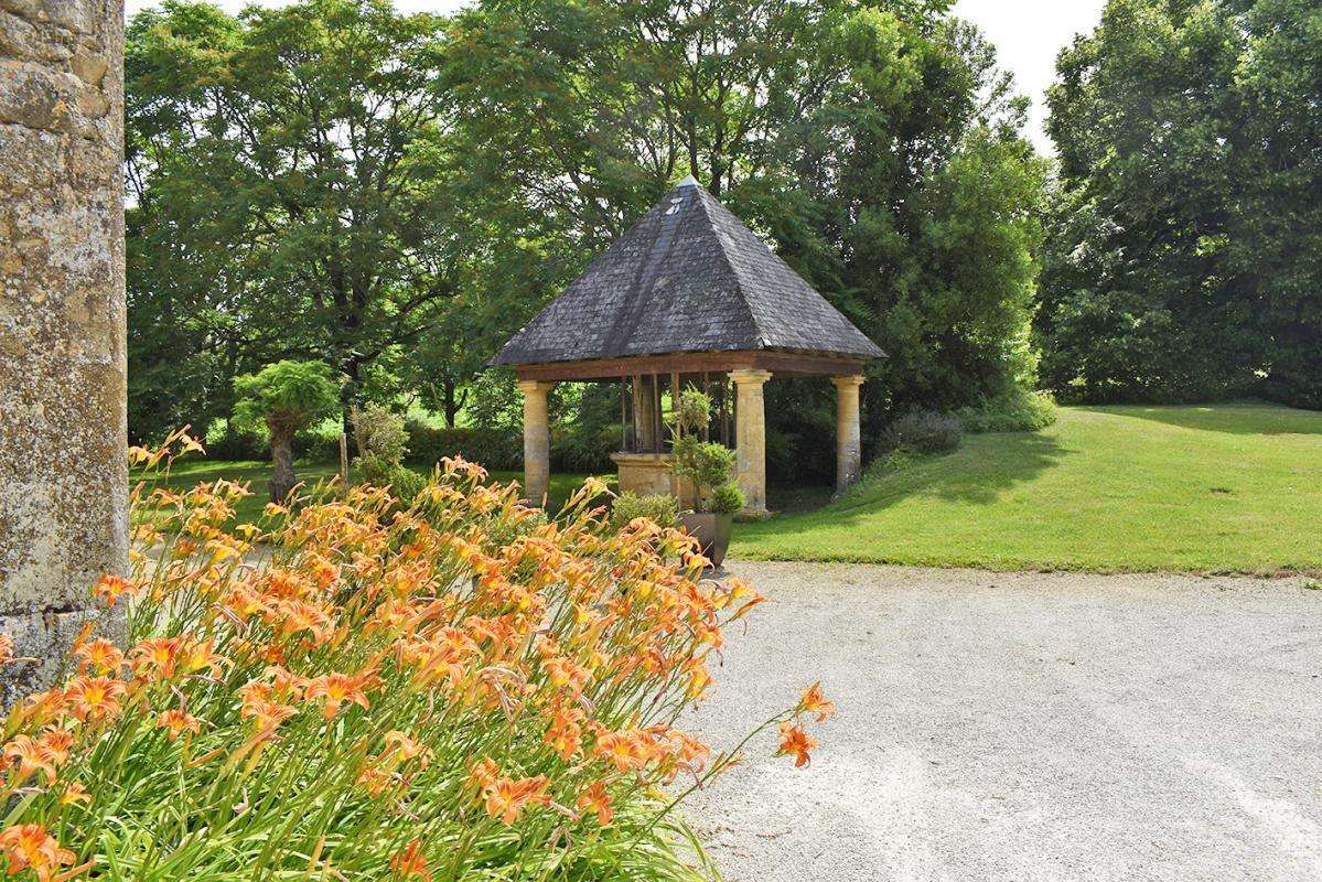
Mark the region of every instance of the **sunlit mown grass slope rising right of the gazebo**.
<instances>
[{"instance_id":1,"label":"sunlit mown grass slope rising right of the gazebo","mask_svg":"<svg viewBox=\"0 0 1322 882\"><path fill-rule=\"evenodd\" d=\"M1066 407L974 435L810 513L740 525L731 555L993 569L1322 569L1322 413Z\"/></svg>"}]
</instances>

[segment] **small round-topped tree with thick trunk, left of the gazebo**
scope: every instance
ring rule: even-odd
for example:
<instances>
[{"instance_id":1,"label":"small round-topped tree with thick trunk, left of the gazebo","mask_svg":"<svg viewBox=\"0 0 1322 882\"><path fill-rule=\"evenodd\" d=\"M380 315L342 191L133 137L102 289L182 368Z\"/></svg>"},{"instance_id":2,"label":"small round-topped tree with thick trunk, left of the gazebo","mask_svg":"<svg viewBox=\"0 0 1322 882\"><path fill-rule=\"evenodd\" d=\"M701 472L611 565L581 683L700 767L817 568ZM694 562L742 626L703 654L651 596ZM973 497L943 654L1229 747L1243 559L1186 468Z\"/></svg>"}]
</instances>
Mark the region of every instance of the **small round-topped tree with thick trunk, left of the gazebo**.
<instances>
[{"instance_id":1,"label":"small round-topped tree with thick trunk, left of the gazebo","mask_svg":"<svg viewBox=\"0 0 1322 882\"><path fill-rule=\"evenodd\" d=\"M340 387L321 361L278 361L234 378L234 419L271 432L271 501L283 502L297 484L293 434L333 414Z\"/></svg>"}]
</instances>

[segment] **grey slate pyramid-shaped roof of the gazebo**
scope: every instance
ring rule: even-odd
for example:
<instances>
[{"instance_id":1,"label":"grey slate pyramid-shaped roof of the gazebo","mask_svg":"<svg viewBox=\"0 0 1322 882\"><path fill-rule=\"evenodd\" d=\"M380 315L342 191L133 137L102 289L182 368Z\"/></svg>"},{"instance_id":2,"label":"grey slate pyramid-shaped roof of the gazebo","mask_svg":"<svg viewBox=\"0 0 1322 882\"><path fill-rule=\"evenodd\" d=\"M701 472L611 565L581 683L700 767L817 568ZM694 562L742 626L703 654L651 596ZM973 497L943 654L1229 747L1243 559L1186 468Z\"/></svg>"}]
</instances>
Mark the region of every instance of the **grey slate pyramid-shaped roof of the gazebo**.
<instances>
[{"instance_id":1,"label":"grey slate pyramid-shaped roof of the gazebo","mask_svg":"<svg viewBox=\"0 0 1322 882\"><path fill-rule=\"evenodd\" d=\"M883 354L687 177L510 337L492 364L763 349Z\"/></svg>"}]
</instances>

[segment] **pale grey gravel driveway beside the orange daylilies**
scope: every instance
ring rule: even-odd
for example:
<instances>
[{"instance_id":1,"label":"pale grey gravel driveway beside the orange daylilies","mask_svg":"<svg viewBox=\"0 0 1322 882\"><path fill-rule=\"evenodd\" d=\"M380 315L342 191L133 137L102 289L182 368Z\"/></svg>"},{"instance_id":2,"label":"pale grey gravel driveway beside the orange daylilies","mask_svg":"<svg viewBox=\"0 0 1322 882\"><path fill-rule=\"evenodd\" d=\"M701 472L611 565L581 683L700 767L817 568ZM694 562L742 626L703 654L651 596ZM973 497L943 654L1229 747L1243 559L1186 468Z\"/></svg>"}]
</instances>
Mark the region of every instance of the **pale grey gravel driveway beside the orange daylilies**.
<instances>
[{"instance_id":1,"label":"pale grey gravel driveway beside the orange daylilies","mask_svg":"<svg viewBox=\"0 0 1322 882\"><path fill-rule=\"evenodd\" d=\"M772 603L689 726L821 678L812 767L689 819L728 882L1322 879L1322 591L1300 581L731 563Z\"/></svg>"}]
</instances>

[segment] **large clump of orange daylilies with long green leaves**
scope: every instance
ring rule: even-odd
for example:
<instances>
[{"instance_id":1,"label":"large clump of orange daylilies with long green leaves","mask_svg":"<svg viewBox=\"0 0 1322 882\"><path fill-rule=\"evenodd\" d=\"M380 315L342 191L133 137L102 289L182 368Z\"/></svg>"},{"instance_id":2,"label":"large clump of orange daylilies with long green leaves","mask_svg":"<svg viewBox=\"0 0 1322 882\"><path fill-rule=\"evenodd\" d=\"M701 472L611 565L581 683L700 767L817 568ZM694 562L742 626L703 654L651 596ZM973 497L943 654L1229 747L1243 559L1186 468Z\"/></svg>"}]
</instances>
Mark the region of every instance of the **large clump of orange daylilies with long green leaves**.
<instances>
[{"instance_id":1,"label":"large clump of orange daylilies with long green leaves","mask_svg":"<svg viewBox=\"0 0 1322 882\"><path fill-rule=\"evenodd\" d=\"M131 573L4 722L8 873L706 878L670 809L738 752L674 723L760 598L607 528L599 487L549 521L484 481L447 460L408 505L330 487L239 525L245 487L140 484ZM802 766L833 710L813 686L764 727Z\"/></svg>"}]
</instances>

